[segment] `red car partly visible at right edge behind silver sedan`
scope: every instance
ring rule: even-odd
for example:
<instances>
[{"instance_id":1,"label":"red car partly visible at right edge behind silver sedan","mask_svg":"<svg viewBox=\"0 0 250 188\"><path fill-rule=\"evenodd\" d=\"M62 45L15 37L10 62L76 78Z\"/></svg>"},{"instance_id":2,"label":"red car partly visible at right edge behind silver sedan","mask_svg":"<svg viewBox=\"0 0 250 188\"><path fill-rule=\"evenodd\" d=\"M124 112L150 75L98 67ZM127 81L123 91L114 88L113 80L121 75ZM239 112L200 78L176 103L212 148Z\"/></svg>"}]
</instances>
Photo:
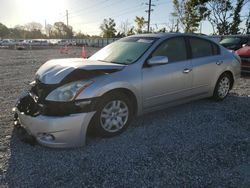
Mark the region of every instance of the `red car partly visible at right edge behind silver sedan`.
<instances>
[{"instance_id":1,"label":"red car partly visible at right edge behind silver sedan","mask_svg":"<svg viewBox=\"0 0 250 188\"><path fill-rule=\"evenodd\" d=\"M250 73L250 42L235 53L241 58L241 71Z\"/></svg>"}]
</instances>

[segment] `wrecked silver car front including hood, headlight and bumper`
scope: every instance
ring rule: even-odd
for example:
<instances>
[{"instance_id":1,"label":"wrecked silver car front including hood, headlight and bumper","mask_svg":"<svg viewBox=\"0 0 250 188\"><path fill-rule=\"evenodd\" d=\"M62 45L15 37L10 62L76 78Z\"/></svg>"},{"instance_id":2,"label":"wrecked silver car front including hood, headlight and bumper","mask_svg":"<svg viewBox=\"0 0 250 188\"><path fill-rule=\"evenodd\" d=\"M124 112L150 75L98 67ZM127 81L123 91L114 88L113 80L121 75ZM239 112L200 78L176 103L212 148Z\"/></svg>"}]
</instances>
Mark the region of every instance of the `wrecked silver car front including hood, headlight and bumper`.
<instances>
[{"instance_id":1,"label":"wrecked silver car front including hood, headlight and bumper","mask_svg":"<svg viewBox=\"0 0 250 188\"><path fill-rule=\"evenodd\" d=\"M71 59L70 59L71 60ZM76 147L85 143L88 125L95 114L99 97L77 98L92 79L117 72L123 66L78 59L45 63L36 80L15 106L15 124L21 140L38 141L49 147ZM67 88L73 97L58 97ZM58 93L59 92L59 93ZM66 92L65 96L68 96ZM77 98L77 99L76 99ZM23 137L25 139L23 139Z\"/></svg>"}]
</instances>

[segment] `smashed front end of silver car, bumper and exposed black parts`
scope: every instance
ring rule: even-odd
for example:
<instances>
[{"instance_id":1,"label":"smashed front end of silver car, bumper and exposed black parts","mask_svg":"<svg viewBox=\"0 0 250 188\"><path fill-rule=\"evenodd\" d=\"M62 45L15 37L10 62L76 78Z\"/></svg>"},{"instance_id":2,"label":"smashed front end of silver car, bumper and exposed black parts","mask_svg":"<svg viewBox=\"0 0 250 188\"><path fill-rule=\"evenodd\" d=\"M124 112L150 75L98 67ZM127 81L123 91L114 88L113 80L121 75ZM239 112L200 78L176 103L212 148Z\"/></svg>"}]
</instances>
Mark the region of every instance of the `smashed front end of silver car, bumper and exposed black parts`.
<instances>
[{"instance_id":1,"label":"smashed front end of silver car, bumper and exposed black parts","mask_svg":"<svg viewBox=\"0 0 250 188\"><path fill-rule=\"evenodd\" d=\"M18 137L34 145L48 147L84 145L88 124L94 115L98 98L69 102L47 101L47 95L59 85L32 84L14 108ZM83 139L83 140L82 140Z\"/></svg>"}]
</instances>

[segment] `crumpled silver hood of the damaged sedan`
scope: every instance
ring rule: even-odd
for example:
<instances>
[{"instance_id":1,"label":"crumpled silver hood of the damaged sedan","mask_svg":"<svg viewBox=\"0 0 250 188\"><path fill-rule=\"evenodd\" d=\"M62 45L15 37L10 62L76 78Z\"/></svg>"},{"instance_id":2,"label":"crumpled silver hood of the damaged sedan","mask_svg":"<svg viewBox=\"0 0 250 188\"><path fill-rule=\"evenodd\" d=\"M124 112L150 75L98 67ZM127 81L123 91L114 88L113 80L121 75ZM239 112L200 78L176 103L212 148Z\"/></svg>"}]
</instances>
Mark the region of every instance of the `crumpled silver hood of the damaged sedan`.
<instances>
[{"instance_id":1,"label":"crumpled silver hood of the damaged sedan","mask_svg":"<svg viewBox=\"0 0 250 188\"><path fill-rule=\"evenodd\" d=\"M68 83L116 72L125 66L82 58L55 59L38 69L36 80L44 84Z\"/></svg>"}]
</instances>

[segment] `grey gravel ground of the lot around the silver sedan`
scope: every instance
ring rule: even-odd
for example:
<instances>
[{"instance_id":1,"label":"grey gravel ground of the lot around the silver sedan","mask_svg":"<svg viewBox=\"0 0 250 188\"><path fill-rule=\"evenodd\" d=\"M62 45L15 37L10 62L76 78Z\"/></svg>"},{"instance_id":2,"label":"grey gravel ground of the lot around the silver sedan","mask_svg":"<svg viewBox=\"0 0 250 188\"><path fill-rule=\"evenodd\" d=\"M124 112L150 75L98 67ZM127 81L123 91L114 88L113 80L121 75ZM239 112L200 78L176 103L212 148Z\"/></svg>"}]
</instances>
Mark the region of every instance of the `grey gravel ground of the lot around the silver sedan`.
<instances>
[{"instance_id":1,"label":"grey gravel ground of the lot around the silver sedan","mask_svg":"<svg viewBox=\"0 0 250 188\"><path fill-rule=\"evenodd\" d=\"M87 49L92 53L96 49ZM11 108L59 50L0 50L0 186L250 187L250 77L223 102L208 99L137 118L123 134L87 146L49 149L22 143Z\"/></svg>"}]
</instances>

